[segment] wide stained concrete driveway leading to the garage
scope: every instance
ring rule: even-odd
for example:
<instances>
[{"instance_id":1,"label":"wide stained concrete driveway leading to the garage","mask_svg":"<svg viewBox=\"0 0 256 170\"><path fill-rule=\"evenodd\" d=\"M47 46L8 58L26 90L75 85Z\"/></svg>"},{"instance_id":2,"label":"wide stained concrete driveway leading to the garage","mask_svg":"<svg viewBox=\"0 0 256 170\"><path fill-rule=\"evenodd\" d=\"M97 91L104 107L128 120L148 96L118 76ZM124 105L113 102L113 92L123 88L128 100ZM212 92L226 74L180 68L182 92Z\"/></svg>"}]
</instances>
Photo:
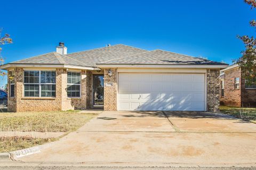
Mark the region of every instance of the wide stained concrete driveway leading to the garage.
<instances>
[{"instance_id":1,"label":"wide stained concrete driveway leading to the garage","mask_svg":"<svg viewBox=\"0 0 256 170\"><path fill-rule=\"evenodd\" d=\"M103 111L49 146L20 160L93 166L256 166L256 124L207 112Z\"/></svg>"}]
</instances>

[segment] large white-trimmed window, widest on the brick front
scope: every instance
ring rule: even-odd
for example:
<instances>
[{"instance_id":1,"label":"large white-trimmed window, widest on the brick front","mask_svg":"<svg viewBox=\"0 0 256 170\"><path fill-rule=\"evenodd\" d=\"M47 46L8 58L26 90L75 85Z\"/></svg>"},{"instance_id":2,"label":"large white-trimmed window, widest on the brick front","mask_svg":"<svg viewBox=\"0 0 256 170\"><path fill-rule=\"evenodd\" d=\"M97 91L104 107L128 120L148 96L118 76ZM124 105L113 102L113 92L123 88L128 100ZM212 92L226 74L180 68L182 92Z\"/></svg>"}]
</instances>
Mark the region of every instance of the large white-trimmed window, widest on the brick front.
<instances>
[{"instance_id":1,"label":"large white-trimmed window, widest on the brick front","mask_svg":"<svg viewBox=\"0 0 256 170\"><path fill-rule=\"evenodd\" d=\"M55 97L55 71L24 71L25 97Z\"/></svg>"}]
</instances>

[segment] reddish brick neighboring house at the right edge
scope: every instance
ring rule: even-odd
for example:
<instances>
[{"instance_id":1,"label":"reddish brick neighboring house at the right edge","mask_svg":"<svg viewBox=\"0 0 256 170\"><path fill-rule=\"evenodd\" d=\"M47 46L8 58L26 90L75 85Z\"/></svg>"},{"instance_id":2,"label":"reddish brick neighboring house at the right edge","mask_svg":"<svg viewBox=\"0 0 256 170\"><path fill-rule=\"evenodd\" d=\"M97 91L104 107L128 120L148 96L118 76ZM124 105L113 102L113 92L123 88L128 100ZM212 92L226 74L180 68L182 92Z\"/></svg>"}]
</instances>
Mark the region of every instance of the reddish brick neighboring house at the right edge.
<instances>
[{"instance_id":1,"label":"reddish brick neighboring house at the right edge","mask_svg":"<svg viewBox=\"0 0 256 170\"><path fill-rule=\"evenodd\" d=\"M246 85L241 68L233 64L220 71L220 102L226 106L256 106L256 83Z\"/></svg>"}]
</instances>

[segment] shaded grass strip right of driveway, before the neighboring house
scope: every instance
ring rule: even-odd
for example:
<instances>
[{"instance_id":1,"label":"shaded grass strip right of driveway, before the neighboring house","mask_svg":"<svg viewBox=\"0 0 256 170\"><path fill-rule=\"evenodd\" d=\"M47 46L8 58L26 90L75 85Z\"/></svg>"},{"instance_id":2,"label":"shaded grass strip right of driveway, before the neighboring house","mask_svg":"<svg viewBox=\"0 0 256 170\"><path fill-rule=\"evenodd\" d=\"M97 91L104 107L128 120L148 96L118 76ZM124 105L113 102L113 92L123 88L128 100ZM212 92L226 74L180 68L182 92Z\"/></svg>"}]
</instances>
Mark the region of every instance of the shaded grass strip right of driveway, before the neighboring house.
<instances>
[{"instance_id":1,"label":"shaded grass strip right of driveway, before the neighboring house","mask_svg":"<svg viewBox=\"0 0 256 170\"><path fill-rule=\"evenodd\" d=\"M256 120L256 108L239 108L233 106L220 106L223 114L228 114L243 120Z\"/></svg>"}]
</instances>

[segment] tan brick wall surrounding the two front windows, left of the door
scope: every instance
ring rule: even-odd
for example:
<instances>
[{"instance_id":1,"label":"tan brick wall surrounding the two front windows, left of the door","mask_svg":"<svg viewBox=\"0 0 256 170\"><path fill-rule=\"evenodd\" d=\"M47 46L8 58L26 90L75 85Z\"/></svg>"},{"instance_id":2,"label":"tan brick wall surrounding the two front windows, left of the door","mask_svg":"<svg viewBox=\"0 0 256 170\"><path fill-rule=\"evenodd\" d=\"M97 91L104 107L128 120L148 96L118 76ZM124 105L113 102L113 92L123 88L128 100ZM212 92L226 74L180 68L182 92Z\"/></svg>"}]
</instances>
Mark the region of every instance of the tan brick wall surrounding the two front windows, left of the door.
<instances>
[{"instance_id":1,"label":"tan brick wall surrounding the two front windows, left of the door","mask_svg":"<svg viewBox=\"0 0 256 170\"><path fill-rule=\"evenodd\" d=\"M14 69L14 98L10 98L8 91L8 111L53 111L90 108L91 96L91 72L81 72L81 97L67 97L67 70L56 69L56 97L55 98L31 98L23 97L23 69ZM88 82L88 83L87 83ZM10 87L10 80L8 80Z\"/></svg>"}]
</instances>

